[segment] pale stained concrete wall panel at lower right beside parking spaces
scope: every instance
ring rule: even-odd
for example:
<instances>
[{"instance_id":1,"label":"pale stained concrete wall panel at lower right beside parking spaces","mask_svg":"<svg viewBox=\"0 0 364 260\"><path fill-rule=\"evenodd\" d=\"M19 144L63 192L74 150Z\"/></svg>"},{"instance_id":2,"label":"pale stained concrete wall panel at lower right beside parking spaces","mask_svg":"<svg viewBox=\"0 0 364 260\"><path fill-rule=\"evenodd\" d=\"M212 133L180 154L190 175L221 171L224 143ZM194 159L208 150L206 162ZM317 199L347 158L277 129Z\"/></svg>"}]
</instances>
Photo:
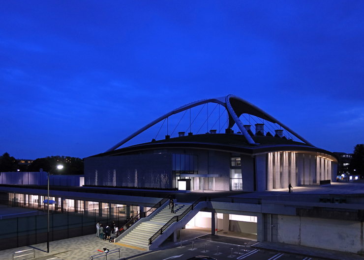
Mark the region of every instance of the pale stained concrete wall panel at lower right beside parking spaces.
<instances>
[{"instance_id":1,"label":"pale stained concrete wall panel at lower right beside parking spaces","mask_svg":"<svg viewBox=\"0 0 364 260\"><path fill-rule=\"evenodd\" d=\"M360 221L278 215L278 242L343 252L363 252Z\"/></svg>"}]
</instances>

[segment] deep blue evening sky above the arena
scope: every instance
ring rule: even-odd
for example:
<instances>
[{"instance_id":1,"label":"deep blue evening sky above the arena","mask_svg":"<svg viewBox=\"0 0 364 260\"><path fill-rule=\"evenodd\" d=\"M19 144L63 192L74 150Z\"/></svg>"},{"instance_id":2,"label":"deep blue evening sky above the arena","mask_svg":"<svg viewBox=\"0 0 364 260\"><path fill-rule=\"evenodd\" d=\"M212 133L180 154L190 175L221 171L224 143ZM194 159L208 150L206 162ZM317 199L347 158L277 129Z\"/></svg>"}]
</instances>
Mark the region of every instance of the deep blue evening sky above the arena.
<instances>
[{"instance_id":1,"label":"deep blue evening sky above the arena","mask_svg":"<svg viewBox=\"0 0 364 260\"><path fill-rule=\"evenodd\" d=\"M351 153L364 142L363 13L354 0L2 0L0 154L95 155L228 94Z\"/></svg>"}]
</instances>

